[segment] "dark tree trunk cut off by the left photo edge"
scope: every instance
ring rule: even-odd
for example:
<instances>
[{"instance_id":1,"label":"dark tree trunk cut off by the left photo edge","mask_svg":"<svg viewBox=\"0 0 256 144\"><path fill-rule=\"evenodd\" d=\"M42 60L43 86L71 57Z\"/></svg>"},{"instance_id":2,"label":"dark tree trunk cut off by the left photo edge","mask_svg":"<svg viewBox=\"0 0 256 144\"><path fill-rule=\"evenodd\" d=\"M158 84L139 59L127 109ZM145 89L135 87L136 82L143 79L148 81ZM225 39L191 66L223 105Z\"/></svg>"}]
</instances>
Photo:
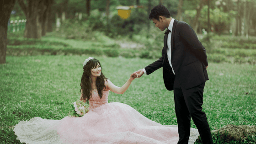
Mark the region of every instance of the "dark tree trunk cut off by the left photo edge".
<instances>
[{"instance_id":1,"label":"dark tree trunk cut off by the left photo edge","mask_svg":"<svg viewBox=\"0 0 256 144\"><path fill-rule=\"evenodd\" d=\"M15 0L0 0L0 64L6 63L7 29Z\"/></svg>"}]
</instances>

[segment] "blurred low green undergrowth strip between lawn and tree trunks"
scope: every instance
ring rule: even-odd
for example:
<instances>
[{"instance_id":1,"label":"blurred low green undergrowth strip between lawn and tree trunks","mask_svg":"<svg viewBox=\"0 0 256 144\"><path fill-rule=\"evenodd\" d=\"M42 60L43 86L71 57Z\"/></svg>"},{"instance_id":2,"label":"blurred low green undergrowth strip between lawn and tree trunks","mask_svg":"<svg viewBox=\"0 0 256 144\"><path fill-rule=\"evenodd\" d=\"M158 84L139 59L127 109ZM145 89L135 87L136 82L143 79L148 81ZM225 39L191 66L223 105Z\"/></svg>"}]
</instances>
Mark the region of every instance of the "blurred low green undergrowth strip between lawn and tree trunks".
<instances>
[{"instance_id":1,"label":"blurred low green undergrowth strip between lawn and tree trunks","mask_svg":"<svg viewBox=\"0 0 256 144\"><path fill-rule=\"evenodd\" d=\"M8 35L7 55L83 55L93 54L109 57L159 59L163 48L163 32L150 26L149 31L140 34L118 37L116 40L104 35L104 32L93 32L91 39L63 39L52 32L42 40L20 38L22 33ZM200 38L200 37L199 37ZM120 48L117 40L133 41L144 45L142 48ZM256 38L219 36L213 33L200 38L206 48L209 62L228 62L239 64L256 64Z\"/></svg>"}]
</instances>

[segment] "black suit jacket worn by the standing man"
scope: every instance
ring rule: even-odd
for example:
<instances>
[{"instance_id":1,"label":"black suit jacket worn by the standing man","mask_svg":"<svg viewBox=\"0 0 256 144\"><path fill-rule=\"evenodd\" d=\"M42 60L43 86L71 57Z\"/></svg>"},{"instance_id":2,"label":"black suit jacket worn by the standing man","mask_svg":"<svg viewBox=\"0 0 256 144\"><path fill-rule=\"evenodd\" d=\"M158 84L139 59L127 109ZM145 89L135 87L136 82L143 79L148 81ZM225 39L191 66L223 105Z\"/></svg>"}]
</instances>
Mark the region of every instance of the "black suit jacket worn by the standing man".
<instances>
[{"instance_id":1,"label":"black suit jacket worn by the standing man","mask_svg":"<svg viewBox=\"0 0 256 144\"><path fill-rule=\"evenodd\" d=\"M162 56L145 67L147 75L163 67L163 77L167 90L173 90L174 79L186 89L204 83L208 79L205 66L208 66L207 55L196 33L184 21L175 20L171 31L171 64L167 58L167 34L164 37Z\"/></svg>"}]
</instances>

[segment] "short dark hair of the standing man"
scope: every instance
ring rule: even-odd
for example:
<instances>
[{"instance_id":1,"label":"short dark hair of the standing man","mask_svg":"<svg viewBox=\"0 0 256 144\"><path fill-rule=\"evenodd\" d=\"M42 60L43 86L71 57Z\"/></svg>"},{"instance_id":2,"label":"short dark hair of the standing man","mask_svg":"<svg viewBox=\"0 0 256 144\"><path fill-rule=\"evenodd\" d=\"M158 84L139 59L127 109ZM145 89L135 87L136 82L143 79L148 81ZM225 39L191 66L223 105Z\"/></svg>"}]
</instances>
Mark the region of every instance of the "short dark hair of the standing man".
<instances>
[{"instance_id":1,"label":"short dark hair of the standing man","mask_svg":"<svg viewBox=\"0 0 256 144\"><path fill-rule=\"evenodd\" d=\"M170 18L171 13L164 5L157 5L151 10L149 14L149 19L152 20L154 18L159 21L159 16L165 16L166 18Z\"/></svg>"}]
</instances>

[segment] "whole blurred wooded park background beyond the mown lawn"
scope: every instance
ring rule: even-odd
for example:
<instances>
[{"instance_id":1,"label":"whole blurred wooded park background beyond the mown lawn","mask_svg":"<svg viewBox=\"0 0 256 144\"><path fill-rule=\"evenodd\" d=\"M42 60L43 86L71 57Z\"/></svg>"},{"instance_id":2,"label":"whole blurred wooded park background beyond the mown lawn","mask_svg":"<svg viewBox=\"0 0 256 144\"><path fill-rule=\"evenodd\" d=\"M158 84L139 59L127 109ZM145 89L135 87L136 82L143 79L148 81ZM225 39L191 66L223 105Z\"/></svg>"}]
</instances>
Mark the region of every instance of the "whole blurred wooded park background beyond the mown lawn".
<instances>
[{"instance_id":1,"label":"whole blurred wooded park background beyond the mown lawn","mask_svg":"<svg viewBox=\"0 0 256 144\"><path fill-rule=\"evenodd\" d=\"M209 61L256 64L256 0L11 0L6 54L157 59L164 32L148 17L160 4L193 27Z\"/></svg>"}]
</instances>

